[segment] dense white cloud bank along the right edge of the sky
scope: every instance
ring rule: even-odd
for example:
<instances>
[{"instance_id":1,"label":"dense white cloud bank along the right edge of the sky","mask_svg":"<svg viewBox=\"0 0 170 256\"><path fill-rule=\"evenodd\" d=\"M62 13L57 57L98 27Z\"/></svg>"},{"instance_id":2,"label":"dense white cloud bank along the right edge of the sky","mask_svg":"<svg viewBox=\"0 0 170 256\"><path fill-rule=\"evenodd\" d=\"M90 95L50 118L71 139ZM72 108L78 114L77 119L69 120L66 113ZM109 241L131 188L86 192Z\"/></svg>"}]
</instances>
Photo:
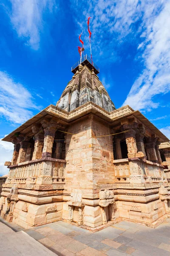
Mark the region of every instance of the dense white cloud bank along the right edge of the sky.
<instances>
[{"instance_id":1,"label":"dense white cloud bank along the right edge of the sky","mask_svg":"<svg viewBox=\"0 0 170 256\"><path fill-rule=\"evenodd\" d=\"M141 29L146 33L142 54L145 69L123 105L150 111L159 106L153 97L170 91L170 2L165 0L158 4L156 1L149 6L143 5L143 8Z\"/></svg>"}]
</instances>

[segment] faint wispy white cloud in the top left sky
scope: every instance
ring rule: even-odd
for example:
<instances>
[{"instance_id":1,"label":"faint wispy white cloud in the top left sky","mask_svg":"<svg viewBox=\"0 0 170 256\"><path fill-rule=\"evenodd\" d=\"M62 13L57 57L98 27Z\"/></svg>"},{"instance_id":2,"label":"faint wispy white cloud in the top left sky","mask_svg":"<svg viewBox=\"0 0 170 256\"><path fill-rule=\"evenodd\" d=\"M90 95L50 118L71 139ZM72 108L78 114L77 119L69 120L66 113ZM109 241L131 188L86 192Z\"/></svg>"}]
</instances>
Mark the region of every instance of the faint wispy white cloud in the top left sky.
<instances>
[{"instance_id":1,"label":"faint wispy white cloud in the top left sky","mask_svg":"<svg viewBox=\"0 0 170 256\"><path fill-rule=\"evenodd\" d=\"M27 44L37 50L40 32L43 29L44 12L57 8L54 0L10 0L12 5L11 23L19 37L27 38Z\"/></svg>"}]
</instances>

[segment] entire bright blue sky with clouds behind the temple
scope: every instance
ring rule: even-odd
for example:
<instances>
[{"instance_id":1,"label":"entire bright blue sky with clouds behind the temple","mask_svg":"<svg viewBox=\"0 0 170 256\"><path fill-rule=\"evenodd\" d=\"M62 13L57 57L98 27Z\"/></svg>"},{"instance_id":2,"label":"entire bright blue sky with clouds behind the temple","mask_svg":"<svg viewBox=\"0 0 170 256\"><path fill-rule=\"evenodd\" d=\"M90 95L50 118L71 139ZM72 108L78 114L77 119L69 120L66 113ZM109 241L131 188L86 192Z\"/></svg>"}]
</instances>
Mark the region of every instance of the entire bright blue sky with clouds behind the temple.
<instances>
[{"instance_id":1,"label":"entire bright blue sky with clouds behind the temple","mask_svg":"<svg viewBox=\"0 0 170 256\"><path fill-rule=\"evenodd\" d=\"M2 0L0 138L56 104L82 34L116 108L140 110L170 138L169 0ZM0 174L13 145L0 140Z\"/></svg>"}]
</instances>

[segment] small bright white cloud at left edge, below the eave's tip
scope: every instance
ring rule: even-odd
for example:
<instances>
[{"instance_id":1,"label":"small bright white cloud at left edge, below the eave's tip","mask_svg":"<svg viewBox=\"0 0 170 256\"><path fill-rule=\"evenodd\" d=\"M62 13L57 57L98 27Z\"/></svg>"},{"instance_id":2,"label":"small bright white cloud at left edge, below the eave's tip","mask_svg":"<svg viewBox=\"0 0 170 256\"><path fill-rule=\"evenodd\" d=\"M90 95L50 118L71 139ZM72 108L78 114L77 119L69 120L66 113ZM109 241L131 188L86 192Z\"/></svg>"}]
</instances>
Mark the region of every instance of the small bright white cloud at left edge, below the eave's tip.
<instances>
[{"instance_id":1,"label":"small bright white cloud at left edge, below the eave's tip","mask_svg":"<svg viewBox=\"0 0 170 256\"><path fill-rule=\"evenodd\" d=\"M6 135L4 136L6 137ZM14 151L14 144L0 139L0 176L8 174L9 169L4 166L6 161L11 161Z\"/></svg>"}]
</instances>

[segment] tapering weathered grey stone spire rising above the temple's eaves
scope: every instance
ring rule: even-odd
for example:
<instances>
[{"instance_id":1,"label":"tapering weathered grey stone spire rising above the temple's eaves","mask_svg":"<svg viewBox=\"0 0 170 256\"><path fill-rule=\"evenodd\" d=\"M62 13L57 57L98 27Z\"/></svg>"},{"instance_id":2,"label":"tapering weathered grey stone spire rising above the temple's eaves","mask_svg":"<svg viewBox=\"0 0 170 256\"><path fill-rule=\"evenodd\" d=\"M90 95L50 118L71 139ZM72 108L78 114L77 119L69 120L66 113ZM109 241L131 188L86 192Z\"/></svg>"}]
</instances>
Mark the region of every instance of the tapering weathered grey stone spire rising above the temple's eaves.
<instances>
[{"instance_id":1,"label":"tapering weathered grey stone spire rising above the temple's eaves","mask_svg":"<svg viewBox=\"0 0 170 256\"><path fill-rule=\"evenodd\" d=\"M83 66L84 65L84 66ZM57 107L65 111L72 111L87 102L94 102L108 112L115 110L108 92L94 72L86 64L79 64L76 73L68 82L62 93Z\"/></svg>"}]
</instances>

